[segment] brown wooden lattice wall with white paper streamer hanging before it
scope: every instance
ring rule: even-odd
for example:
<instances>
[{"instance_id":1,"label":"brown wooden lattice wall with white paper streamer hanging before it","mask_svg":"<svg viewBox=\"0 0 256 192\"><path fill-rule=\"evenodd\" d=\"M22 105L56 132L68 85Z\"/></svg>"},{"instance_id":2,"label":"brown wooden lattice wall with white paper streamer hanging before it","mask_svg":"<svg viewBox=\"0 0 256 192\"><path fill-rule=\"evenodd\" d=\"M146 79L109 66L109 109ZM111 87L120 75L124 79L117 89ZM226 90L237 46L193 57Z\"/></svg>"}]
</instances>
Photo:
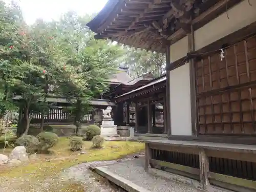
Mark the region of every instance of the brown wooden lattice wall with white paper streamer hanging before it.
<instances>
[{"instance_id":1,"label":"brown wooden lattice wall with white paper streamer hanging before it","mask_svg":"<svg viewBox=\"0 0 256 192\"><path fill-rule=\"evenodd\" d=\"M196 61L199 134L256 135L256 37Z\"/></svg>"}]
</instances>

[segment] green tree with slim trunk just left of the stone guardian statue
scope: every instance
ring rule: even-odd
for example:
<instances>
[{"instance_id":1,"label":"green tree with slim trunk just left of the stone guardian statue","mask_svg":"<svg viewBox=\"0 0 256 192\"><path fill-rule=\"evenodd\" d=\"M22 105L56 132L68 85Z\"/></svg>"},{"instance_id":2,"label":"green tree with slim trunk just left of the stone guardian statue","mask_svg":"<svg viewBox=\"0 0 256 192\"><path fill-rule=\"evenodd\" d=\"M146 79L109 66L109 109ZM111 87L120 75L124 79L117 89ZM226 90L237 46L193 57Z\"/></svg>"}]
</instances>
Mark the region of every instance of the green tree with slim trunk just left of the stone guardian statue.
<instances>
[{"instance_id":1,"label":"green tree with slim trunk just left of the stone guardian statue","mask_svg":"<svg viewBox=\"0 0 256 192\"><path fill-rule=\"evenodd\" d=\"M63 53L68 58L67 65L75 69L79 77L75 87L67 81L59 82L58 86L59 95L77 101L74 103L75 109L72 110L75 113L76 133L82 115L90 109L89 100L108 89L106 80L117 69L118 59L123 54L120 46L108 40L94 39L92 31L84 27L90 19L88 15L80 17L70 12L55 24L61 31L59 45L66 48Z\"/></svg>"}]
</instances>

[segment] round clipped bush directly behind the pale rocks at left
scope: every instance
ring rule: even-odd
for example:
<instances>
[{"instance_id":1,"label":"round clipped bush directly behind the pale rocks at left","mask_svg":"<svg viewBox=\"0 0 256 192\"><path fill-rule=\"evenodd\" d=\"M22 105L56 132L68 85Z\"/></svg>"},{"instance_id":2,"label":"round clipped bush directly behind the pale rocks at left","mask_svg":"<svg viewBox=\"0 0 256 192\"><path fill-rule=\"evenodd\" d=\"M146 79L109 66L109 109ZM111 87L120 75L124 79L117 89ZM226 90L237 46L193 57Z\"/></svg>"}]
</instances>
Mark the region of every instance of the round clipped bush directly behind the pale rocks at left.
<instances>
[{"instance_id":1,"label":"round clipped bush directly behind the pale rocks at left","mask_svg":"<svg viewBox=\"0 0 256 192\"><path fill-rule=\"evenodd\" d=\"M18 146L25 146L28 154L33 154L36 152L38 143L38 139L32 135L23 135L15 142L15 144Z\"/></svg>"}]
</instances>

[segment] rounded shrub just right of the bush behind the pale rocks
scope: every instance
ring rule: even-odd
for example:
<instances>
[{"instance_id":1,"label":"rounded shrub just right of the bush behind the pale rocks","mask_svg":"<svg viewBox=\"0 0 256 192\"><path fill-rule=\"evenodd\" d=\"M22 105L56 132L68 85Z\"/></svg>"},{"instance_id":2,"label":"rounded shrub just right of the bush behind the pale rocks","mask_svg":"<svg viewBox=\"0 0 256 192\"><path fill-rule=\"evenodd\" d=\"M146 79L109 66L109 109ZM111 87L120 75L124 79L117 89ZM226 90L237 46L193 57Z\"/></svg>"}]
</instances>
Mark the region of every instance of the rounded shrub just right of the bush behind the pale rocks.
<instances>
[{"instance_id":1,"label":"rounded shrub just right of the bush behind the pale rocks","mask_svg":"<svg viewBox=\"0 0 256 192\"><path fill-rule=\"evenodd\" d=\"M55 146L59 141L59 137L51 132L39 133L36 137L39 140L37 149L40 153L47 152L49 148Z\"/></svg>"}]
</instances>

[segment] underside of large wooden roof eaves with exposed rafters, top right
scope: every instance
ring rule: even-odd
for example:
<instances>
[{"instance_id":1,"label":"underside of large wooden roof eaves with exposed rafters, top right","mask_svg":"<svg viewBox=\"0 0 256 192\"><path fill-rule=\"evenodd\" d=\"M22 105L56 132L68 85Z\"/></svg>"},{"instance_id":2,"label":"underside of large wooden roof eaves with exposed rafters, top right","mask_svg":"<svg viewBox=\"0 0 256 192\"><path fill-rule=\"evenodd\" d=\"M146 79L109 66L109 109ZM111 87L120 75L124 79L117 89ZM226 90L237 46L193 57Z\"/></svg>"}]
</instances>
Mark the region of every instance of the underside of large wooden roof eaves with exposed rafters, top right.
<instances>
[{"instance_id":1,"label":"underside of large wooden roof eaves with exposed rafters, top right","mask_svg":"<svg viewBox=\"0 0 256 192\"><path fill-rule=\"evenodd\" d=\"M87 24L95 38L165 52L241 0L109 0Z\"/></svg>"}]
</instances>

